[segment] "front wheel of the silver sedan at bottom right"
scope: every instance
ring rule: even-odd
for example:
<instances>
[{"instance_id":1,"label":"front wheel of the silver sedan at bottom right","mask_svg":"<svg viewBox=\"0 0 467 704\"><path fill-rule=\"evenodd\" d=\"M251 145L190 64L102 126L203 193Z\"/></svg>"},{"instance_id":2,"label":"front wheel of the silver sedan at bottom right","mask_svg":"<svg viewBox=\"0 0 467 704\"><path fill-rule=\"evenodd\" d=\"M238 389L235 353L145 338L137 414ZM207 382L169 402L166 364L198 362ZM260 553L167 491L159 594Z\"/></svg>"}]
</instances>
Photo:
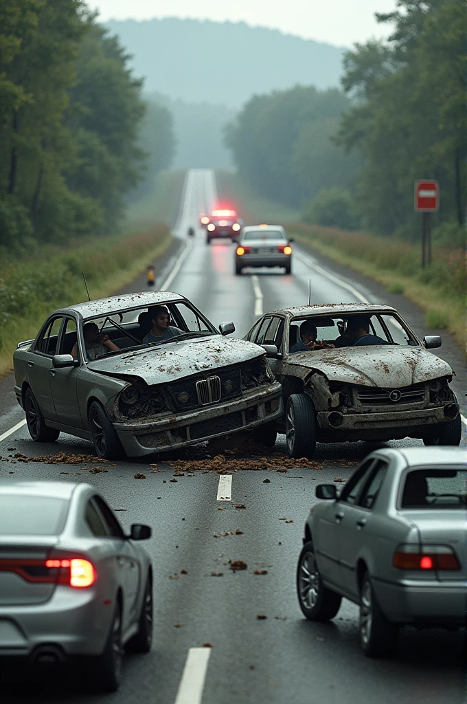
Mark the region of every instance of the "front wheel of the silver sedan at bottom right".
<instances>
[{"instance_id":1,"label":"front wheel of the silver sedan at bottom right","mask_svg":"<svg viewBox=\"0 0 467 704\"><path fill-rule=\"evenodd\" d=\"M311 541L305 543L298 558L297 596L303 615L310 621L329 621L340 609L342 596L324 586Z\"/></svg>"}]
</instances>

